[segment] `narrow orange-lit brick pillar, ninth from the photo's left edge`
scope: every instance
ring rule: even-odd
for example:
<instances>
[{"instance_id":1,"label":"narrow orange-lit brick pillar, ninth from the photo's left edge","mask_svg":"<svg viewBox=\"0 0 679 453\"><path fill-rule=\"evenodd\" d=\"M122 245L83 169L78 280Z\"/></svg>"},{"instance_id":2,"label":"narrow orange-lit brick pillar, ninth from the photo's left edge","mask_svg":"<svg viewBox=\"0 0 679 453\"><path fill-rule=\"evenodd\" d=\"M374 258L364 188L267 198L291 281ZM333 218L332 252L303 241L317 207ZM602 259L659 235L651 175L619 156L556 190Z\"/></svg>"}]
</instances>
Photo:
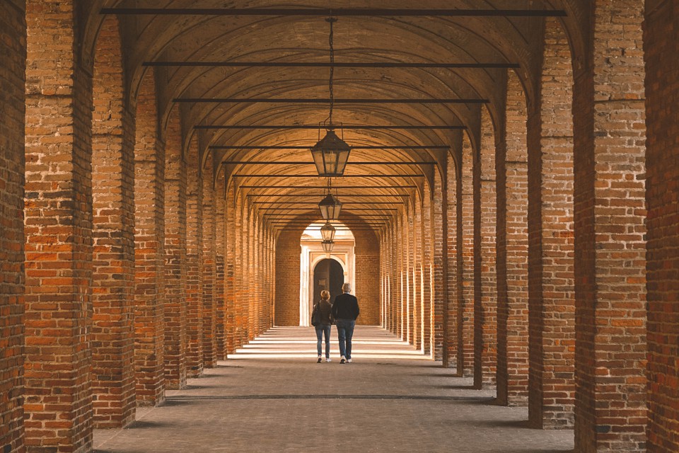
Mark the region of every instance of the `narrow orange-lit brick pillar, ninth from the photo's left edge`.
<instances>
[{"instance_id":1,"label":"narrow orange-lit brick pillar, ninth from the photo's left edge","mask_svg":"<svg viewBox=\"0 0 679 453\"><path fill-rule=\"evenodd\" d=\"M236 231L235 219L236 215L236 190L233 184L228 186L226 192L226 260L224 265L224 274L226 282L224 283L224 292L226 293L226 352L231 353L236 351L238 347L236 342Z\"/></svg>"}]
</instances>

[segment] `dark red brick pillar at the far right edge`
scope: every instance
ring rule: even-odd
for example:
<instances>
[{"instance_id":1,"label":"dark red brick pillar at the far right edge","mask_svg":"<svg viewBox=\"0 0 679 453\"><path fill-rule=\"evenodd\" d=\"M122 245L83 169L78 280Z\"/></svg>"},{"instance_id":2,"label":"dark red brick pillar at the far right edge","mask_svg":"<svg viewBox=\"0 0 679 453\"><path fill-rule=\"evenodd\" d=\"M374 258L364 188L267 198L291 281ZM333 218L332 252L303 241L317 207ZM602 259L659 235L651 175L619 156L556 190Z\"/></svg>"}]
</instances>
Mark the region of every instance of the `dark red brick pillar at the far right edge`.
<instances>
[{"instance_id":1,"label":"dark red brick pillar at the far right edge","mask_svg":"<svg viewBox=\"0 0 679 453\"><path fill-rule=\"evenodd\" d=\"M648 3L648 2L647 2ZM646 11L649 453L679 452L679 6Z\"/></svg>"}]
</instances>

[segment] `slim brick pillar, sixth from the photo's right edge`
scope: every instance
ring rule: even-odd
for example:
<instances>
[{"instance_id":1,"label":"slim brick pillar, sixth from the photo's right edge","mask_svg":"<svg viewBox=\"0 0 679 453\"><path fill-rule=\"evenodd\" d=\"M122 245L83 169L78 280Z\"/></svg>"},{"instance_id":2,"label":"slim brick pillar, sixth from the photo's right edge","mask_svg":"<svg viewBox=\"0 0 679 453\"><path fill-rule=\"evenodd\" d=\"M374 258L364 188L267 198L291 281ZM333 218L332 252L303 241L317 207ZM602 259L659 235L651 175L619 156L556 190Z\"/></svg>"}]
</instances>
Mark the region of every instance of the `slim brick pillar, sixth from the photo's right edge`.
<instances>
[{"instance_id":1,"label":"slim brick pillar, sixth from the photo's right edge","mask_svg":"<svg viewBox=\"0 0 679 453\"><path fill-rule=\"evenodd\" d=\"M457 373L474 374L474 191L473 149L465 135L458 177L458 363Z\"/></svg>"}]
</instances>

